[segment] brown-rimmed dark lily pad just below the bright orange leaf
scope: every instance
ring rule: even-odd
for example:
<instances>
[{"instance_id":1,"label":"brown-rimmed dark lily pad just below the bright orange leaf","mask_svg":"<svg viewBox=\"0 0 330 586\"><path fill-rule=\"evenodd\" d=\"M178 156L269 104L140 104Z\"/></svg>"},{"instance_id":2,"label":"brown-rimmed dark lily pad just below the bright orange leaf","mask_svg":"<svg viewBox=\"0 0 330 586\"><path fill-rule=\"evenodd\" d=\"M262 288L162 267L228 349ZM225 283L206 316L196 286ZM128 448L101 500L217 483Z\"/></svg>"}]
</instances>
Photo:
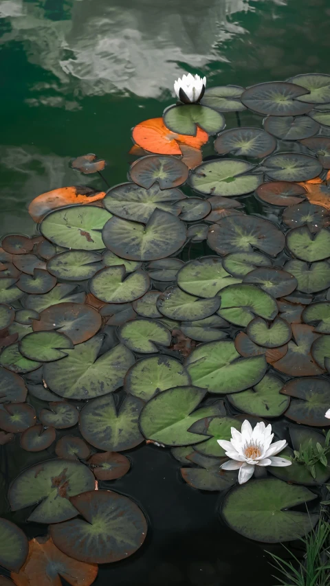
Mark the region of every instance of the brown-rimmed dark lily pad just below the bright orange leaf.
<instances>
[{"instance_id":1,"label":"brown-rimmed dark lily pad just below the bright orange leaf","mask_svg":"<svg viewBox=\"0 0 330 586\"><path fill-rule=\"evenodd\" d=\"M188 167L175 157L148 155L135 161L129 174L134 183L145 189L150 189L156 181L159 189L171 189L188 179Z\"/></svg>"}]
</instances>

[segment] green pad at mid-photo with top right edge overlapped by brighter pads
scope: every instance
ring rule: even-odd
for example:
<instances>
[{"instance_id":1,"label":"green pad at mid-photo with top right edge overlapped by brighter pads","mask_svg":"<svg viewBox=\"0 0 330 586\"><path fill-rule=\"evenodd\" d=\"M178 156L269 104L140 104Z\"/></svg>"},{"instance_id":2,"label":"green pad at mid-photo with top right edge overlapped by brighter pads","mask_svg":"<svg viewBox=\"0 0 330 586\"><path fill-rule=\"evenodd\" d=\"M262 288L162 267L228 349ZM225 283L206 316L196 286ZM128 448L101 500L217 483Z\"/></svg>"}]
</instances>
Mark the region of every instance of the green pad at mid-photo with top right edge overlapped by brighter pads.
<instances>
[{"instance_id":1,"label":"green pad at mid-photo with top right edge overlapped by brighter pads","mask_svg":"<svg viewBox=\"0 0 330 586\"><path fill-rule=\"evenodd\" d=\"M220 300L219 297L200 299L173 286L159 295L156 305L170 319L195 320L212 315L219 308Z\"/></svg>"}]
</instances>

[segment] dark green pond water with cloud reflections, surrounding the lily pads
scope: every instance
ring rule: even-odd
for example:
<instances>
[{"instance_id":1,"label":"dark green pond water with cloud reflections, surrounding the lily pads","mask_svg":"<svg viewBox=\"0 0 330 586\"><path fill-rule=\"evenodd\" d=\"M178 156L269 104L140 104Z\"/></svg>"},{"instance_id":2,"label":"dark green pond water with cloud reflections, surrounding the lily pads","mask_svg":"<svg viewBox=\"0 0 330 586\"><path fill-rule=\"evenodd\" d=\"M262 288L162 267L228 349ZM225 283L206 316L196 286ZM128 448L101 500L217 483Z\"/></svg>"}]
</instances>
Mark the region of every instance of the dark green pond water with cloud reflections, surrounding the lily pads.
<instances>
[{"instance_id":1,"label":"dark green pond water with cloud reflections, surrounding the lily pads","mask_svg":"<svg viewBox=\"0 0 330 586\"><path fill-rule=\"evenodd\" d=\"M184 71L206 75L208 87L329 74L329 16L327 0L0 0L1 236L36 234L28 204L43 192L104 189L97 174L73 170L72 157L97 153L108 162L109 185L126 181L135 160L131 128L162 116ZM225 120L227 128L237 124L234 113ZM239 124L260 126L261 117L245 111ZM213 156L208 144L203 158ZM278 222L278 208L263 208L254 196L244 204L245 212ZM205 253L212 251L195 245L190 258ZM6 448L0 517L30 537L45 534L44 526L25 523L26 510L11 515L5 497L8 479L38 457L15 460L19 446ZM274 585L265 553L272 546L230 530L217 492L188 486L167 449L142 444L125 455L131 471L102 486L140 504L148 536L131 558L101 566L96 585Z\"/></svg>"}]
</instances>

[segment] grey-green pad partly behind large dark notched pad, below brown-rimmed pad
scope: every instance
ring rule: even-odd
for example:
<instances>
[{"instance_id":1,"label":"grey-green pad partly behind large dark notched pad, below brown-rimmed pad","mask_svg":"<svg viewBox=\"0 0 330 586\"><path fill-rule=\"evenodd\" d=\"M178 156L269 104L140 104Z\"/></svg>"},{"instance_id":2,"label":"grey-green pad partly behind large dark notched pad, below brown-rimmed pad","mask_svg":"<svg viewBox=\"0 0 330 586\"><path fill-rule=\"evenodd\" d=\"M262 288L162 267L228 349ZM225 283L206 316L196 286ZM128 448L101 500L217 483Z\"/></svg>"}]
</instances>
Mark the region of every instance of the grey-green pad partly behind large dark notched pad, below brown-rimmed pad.
<instances>
[{"instance_id":1,"label":"grey-green pad partly behind large dark notched pad, below brown-rimmed pad","mask_svg":"<svg viewBox=\"0 0 330 586\"><path fill-rule=\"evenodd\" d=\"M161 190L156 183L149 189L136 183L121 183L107 191L103 203L111 214L119 218L146 223L156 207L178 216L181 210L179 200L185 198L179 189ZM179 205L175 205L176 202Z\"/></svg>"}]
</instances>

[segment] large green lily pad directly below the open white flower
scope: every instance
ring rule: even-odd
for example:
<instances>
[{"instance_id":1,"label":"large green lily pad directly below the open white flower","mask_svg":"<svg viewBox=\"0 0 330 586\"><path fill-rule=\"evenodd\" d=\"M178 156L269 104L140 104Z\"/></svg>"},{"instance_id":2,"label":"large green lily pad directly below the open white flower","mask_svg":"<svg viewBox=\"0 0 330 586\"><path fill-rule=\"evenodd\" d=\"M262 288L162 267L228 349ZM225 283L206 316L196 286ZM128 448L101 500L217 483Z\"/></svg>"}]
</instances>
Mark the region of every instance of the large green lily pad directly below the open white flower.
<instances>
[{"instance_id":1,"label":"large green lily pad directly below the open white flower","mask_svg":"<svg viewBox=\"0 0 330 586\"><path fill-rule=\"evenodd\" d=\"M221 515L244 537L279 543L303 537L318 522L318 514L289 510L316 498L304 486L277 478L250 480L235 486L223 499Z\"/></svg>"}]
</instances>

